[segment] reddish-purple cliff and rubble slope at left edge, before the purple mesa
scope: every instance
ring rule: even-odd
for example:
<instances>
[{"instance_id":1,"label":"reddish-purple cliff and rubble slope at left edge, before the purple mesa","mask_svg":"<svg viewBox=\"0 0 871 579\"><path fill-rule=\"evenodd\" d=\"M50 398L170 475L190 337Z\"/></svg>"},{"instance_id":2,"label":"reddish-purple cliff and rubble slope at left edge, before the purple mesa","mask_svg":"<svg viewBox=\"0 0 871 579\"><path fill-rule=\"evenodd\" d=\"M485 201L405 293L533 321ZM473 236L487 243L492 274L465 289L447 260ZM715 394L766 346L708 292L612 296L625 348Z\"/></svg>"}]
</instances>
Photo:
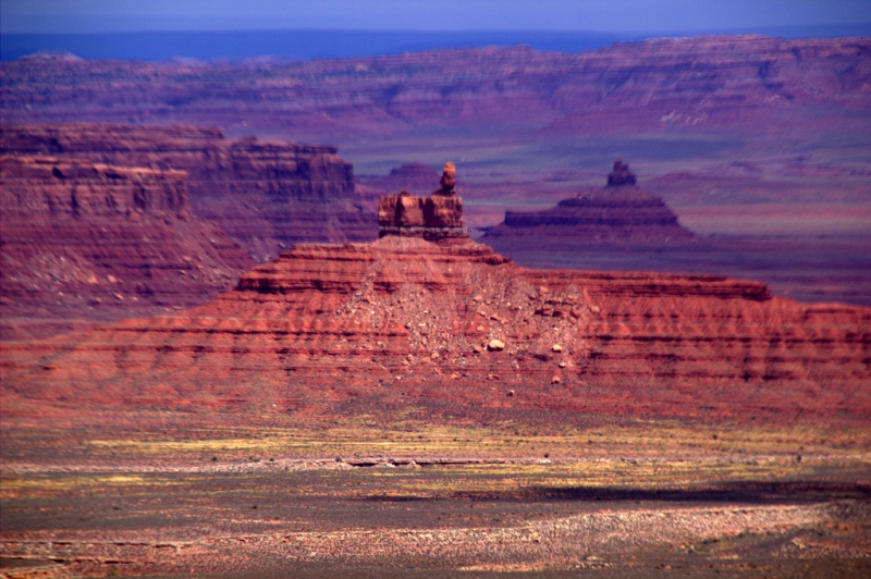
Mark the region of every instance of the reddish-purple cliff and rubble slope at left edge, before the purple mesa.
<instances>
[{"instance_id":1,"label":"reddish-purple cliff and rubble slope at left edge, before the purple mesa","mask_svg":"<svg viewBox=\"0 0 871 579\"><path fill-rule=\"evenodd\" d=\"M0 185L2 340L203 304L252 264L181 171L0 157Z\"/></svg>"}]
</instances>

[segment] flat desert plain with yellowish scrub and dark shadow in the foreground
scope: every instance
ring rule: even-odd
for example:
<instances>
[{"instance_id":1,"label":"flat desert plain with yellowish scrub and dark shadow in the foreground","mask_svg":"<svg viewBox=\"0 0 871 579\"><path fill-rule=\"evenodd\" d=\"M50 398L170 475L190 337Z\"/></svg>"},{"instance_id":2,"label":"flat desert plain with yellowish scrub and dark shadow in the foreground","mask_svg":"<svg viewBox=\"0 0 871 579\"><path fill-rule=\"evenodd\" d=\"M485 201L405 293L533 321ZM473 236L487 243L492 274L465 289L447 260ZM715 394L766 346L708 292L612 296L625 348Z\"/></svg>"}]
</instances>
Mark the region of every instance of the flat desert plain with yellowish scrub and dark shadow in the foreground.
<instances>
[{"instance_id":1,"label":"flat desert plain with yellowish scrub and dark shadow in the foreground","mask_svg":"<svg viewBox=\"0 0 871 579\"><path fill-rule=\"evenodd\" d=\"M5 577L871 569L867 428L128 416L4 430Z\"/></svg>"}]
</instances>

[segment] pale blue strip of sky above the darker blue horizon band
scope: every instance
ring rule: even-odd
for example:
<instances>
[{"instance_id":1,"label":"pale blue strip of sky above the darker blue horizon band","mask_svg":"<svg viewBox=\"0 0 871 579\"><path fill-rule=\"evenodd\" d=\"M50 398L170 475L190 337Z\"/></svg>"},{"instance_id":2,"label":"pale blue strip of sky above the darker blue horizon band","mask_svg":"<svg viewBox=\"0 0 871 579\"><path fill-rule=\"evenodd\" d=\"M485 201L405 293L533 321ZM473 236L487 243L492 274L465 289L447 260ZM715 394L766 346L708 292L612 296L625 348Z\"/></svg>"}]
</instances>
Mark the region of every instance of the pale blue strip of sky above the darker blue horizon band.
<instances>
[{"instance_id":1,"label":"pale blue strip of sky above the darker blue horizon band","mask_svg":"<svg viewBox=\"0 0 871 579\"><path fill-rule=\"evenodd\" d=\"M1 0L0 33L664 30L871 23L871 0Z\"/></svg>"}]
</instances>

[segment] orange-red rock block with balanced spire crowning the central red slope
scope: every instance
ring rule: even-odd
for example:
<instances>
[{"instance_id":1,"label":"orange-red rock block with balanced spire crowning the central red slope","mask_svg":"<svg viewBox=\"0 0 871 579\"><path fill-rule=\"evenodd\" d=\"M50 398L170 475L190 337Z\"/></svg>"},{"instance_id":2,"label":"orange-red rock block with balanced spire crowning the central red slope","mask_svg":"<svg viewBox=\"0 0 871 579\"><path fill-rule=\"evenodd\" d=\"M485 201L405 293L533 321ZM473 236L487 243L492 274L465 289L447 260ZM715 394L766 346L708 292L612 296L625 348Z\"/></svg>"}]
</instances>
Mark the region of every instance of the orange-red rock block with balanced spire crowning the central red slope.
<instances>
[{"instance_id":1,"label":"orange-red rock block with balanced spire crowning the central red slope","mask_svg":"<svg viewBox=\"0 0 871 579\"><path fill-rule=\"evenodd\" d=\"M444 164L439 188L429 197L403 189L381 197L378 205L379 237L422 237L429 242L468 239L463 220L463 199L456 194L456 168Z\"/></svg>"}]
</instances>

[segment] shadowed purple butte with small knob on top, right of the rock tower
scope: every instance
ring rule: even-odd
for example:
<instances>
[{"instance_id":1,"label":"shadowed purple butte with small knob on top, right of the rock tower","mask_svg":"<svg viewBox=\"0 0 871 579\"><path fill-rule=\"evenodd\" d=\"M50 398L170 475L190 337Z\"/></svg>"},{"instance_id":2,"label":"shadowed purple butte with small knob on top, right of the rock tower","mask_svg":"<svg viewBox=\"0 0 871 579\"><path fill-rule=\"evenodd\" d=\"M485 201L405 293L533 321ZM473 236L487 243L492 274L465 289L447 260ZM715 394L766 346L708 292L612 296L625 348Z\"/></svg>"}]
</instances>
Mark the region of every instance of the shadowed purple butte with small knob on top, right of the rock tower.
<instances>
[{"instance_id":1,"label":"shadowed purple butte with small knob on top, right of the rock tower","mask_svg":"<svg viewBox=\"0 0 871 579\"><path fill-rule=\"evenodd\" d=\"M608 186L586 190L542 211L505 211L505 220L482 241L510 252L512 241L561 241L588 244L666 244L689 242L695 234L677 222L662 198L637 186L621 159L608 175Z\"/></svg>"}]
</instances>

